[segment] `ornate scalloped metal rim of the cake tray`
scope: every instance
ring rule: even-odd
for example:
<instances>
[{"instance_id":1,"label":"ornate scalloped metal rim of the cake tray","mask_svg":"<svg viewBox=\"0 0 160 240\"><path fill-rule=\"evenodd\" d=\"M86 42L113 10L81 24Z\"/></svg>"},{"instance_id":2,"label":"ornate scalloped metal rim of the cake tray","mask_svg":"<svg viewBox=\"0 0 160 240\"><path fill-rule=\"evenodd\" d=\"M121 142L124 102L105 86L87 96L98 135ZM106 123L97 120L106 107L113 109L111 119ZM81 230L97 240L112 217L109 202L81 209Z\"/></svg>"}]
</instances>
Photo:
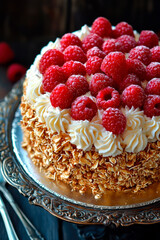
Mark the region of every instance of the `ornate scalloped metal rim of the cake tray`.
<instances>
[{"instance_id":1,"label":"ornate scalloped metal rim of the cake tray","mask_svg":"<svg viewBox=\"0 0 160 240\"><path fill-rule=\"evenodd\" d=\"M116 210L98 210L85 208L51 195L39 188L17 166L12 146L8 139L9 124L22 95L23 81L15 85L12 91L0 102L0 159L2 171L9 184L28 197L31 204L39 205L51 214L63 220L79 224L115 224L129 226L134 223L160 222L160 203L134 208Z\"/></svg>"}]
</instances>

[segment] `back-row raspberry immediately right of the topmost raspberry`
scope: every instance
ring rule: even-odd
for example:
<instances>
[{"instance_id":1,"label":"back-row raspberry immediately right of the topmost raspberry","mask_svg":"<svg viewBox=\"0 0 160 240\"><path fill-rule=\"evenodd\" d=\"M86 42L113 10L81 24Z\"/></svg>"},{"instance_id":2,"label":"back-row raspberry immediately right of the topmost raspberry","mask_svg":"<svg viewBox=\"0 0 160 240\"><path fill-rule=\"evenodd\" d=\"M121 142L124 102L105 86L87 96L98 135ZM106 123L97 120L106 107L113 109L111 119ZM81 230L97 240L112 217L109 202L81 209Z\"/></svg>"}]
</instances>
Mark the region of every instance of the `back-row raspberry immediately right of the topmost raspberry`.
<instances>
[{"instance_id":1,"label":"back-row raspberry immediately right of the topmost raspberry","mask_svg":"<svg viewBox=\"0 0 160 240\"><path fill-rule=\"evenodd\" d=\"M115 27L114 35L116 38L122 35L130 35L134 37L133 28L127 22L120 22Z\"/></svg>"}]
</instances>

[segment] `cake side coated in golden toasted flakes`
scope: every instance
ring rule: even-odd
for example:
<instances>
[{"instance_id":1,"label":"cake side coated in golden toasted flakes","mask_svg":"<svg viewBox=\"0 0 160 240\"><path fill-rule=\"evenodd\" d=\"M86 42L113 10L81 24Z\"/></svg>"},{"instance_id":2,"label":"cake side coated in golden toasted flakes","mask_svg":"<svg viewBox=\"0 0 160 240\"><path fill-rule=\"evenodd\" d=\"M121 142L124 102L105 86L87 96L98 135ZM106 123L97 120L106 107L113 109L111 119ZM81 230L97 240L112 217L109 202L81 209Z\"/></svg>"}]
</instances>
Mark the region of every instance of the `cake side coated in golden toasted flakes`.
<instances>
[{"instance_id":1,"label":"cake side coated in golden toasted flakes","mask_svg":"<svg viewBox=\"0 0 160 240\"><path fill-rule=\"evenodd\" d=\"M137 154L123 152L115 157L103 157L93 147L86 152L77 149L68 134L51 133L39 121L25 95L21 113L22 146L49 179L62 180L80 193L91 190L96 198L107 189L137 192L160 179L159 141L148 143Z\"/></svg>"}]
</instances>

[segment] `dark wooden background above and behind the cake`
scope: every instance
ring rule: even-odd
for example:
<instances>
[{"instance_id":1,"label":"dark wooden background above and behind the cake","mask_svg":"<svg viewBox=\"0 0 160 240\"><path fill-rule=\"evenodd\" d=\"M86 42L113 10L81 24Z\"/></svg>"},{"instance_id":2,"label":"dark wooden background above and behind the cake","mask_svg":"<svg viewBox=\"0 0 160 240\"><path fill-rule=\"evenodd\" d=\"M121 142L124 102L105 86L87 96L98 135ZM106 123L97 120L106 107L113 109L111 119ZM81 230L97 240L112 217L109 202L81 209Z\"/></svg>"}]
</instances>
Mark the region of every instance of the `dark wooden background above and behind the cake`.
<instances>
[{"instance_id":1,"label":"dark wooden background above and behind the cake","mask_svg":"<svg viewBox=\"0 0 160 240\"><path fill-rule=\"evenodd\" d=\"M90 26L98 16L160 33L159 0L1 0L0 41L9 42L16 60L29 67L48 41Z\"/></svg>"}]
</instances>

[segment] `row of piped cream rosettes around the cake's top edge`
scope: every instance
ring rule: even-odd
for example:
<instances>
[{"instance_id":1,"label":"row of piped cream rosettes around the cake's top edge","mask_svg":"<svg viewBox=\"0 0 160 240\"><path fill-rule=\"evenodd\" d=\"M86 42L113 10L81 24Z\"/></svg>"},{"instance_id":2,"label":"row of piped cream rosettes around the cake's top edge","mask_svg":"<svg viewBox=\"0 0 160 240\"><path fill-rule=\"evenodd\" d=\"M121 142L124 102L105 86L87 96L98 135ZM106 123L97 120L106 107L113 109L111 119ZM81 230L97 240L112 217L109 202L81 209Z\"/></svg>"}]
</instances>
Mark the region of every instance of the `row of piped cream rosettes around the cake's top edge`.
<instances>
[{"instance_id":1,"label":"row of piped cream rosettes around the cake's top edge","mask_svg":"<svg viewBox=\"0 0 160 240\"><path fill-rule=\"evenodd\" d=\"M41 94L40 86L42 75L35 74L34 66L27 74L28 86L26 91L27 100L34 106L39 120L47 125L53 133L68 133L71 143L78 149L89 151L94 145L99 154L104 157L117 156L123 152L137 153L145 149L148 142L160 140L160 117L147 118L143 111L128 107L121 111L127 118L126 129L121 136L106 131L101 125L103 110L98 110L97 115L91 122L75 121L71 119L70 110L59 107L54 108L50 103L50 93ZM36 70L37 71L37 70ZM86 94L93 101L95 98Z\"/></svg>"}]
</instances>

